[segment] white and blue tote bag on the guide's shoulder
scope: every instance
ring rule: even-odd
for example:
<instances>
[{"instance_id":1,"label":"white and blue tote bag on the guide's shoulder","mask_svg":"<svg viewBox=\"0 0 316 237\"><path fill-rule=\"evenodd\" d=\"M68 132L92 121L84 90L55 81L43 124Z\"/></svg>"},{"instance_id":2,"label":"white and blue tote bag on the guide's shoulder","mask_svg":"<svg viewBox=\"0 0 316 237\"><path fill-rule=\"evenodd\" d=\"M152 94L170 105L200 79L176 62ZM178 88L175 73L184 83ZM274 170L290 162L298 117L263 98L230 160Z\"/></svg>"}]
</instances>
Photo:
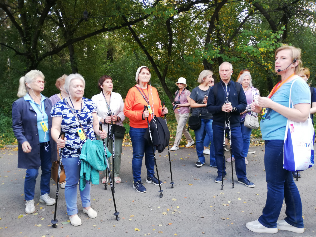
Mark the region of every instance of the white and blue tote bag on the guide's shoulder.
<instances>
[{"instance_id":1,"label":"white and blue tote bag on the guide's shoulder","mask_svg":"<svg viewBox=\"0 0 316 237\"><path fill-rule=\"evenodd\" d=\"M298 79L293 82L296 80ZM291 98L293 82L289 98ZM291 99L289 108L290 103L294 108ZM302 171L312 167L314 165L314 139L315 131L310 116L304 123L288 119L284 136L283 168L289 171Z\"/></svg>"}]
</instances>

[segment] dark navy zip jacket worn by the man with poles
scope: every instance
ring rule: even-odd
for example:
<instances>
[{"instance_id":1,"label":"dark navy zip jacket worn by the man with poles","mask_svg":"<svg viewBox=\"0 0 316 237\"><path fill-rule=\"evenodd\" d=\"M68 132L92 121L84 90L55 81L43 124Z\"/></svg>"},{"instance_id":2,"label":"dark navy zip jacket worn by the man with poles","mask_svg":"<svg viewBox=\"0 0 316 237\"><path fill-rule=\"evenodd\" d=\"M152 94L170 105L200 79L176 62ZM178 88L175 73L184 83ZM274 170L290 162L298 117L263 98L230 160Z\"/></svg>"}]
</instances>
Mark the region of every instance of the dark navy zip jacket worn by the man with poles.
<instances>
[{"instance_id":1,"label":"dark navy zip jacket worn by the man with poles","mask_svg":"<svg viewBox=\"0 0 316 237\"><path fill-rule=\"evenodd\" d=\"M213 114L213 124L224 127L225 112L222 111L222 105L225 104L225 101L227 100L226 96L228 92L228 101L231 102L233 106L233 111L229 112L230 126L239 127L240 113L244 112L247 107L247 100L244 90L240 88L240 92L238 94L237 87L241 87L241 85L238 82L233 82L232 80L230 80L227 85L225 85L222 80L216 84L218 84L216 98L214 96L214 85L210 89L206 105L207 110ZM236 108L236 111L234 111L234 107ZM226 114L226 123L228 123L227 116L228 113Z\"/></svg>"}]
</instances>

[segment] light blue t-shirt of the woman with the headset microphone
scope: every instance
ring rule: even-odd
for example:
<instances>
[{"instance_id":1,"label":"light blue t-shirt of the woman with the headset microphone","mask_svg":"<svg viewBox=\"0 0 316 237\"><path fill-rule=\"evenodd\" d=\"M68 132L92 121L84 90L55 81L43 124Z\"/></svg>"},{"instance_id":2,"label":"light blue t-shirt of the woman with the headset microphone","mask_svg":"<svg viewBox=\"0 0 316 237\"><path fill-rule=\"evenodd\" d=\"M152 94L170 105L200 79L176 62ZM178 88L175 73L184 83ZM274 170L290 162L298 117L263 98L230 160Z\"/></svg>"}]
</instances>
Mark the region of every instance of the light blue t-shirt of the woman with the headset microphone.
<instances>
[{"instance_id":1,"label":"light blue t-shirt of the woman with the headset microphone","mask_svg":"<svg viewBox=\"0 0 316 237\"><path fill-rule=\"evenodd\" d=\"M294 79L295 80L295 79ZM289 107L289 95L292 82L284 83L274 95L271 100ZM300 103L311 103L311 92L307 83L303 79L298 79L293 82L291 98L293 105ZM291 105L292 107L292 105ZM261 119L260 128L262 139L264 140L283 140L285 135L285 128L288 119L283 115L275 112L274 110L267 108L265 119Z\"/></svg>"}]
</instances>

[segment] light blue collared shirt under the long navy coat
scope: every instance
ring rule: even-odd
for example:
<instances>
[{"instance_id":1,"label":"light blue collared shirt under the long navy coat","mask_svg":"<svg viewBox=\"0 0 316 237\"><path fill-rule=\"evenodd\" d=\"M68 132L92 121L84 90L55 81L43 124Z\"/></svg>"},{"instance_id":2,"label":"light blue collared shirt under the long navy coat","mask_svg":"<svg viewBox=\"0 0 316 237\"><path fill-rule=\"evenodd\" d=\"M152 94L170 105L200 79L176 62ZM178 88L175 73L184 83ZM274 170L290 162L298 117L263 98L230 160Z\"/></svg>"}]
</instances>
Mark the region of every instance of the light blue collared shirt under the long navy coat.
<instances>
[{"instance_id":1,"label":"light blue collared shirt under the long navy coat","mask_svg":"<svg viewBox=\"0 0 316 237\"><path fill-rule=\"evenodd\" d=\"M49 131L44 132L41 122L45 122L47 128L48 128L48 116L45 112L45 105L44 105L44 100L46 100L45 96L41 96L41 103L36 104L34 102L34 100L31 98L31 96L29 94L26 94L23 98L25 101L29 101L30 105L33 107L34 111L36 112L36 118L37 118L37 130L39 132L39 139L40 139L40 143L43 142L49 142ZM43 112L40 111L40 108Z\"/></svg>"}]
</instances>

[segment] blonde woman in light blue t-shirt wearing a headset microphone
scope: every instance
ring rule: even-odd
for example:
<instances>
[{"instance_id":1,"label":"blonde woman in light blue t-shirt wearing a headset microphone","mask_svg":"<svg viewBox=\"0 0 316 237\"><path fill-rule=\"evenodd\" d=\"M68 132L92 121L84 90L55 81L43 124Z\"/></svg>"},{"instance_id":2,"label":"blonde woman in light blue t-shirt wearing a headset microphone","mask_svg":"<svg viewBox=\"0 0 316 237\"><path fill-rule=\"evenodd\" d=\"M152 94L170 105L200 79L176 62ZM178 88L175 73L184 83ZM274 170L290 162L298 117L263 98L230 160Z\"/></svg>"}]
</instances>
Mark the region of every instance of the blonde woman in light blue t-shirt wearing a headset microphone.
<instances>
[{"instance_id":1,"label":"blonde woman in light blue t-shirt wearing a headset microphone","mask_svg":"<svg viewBox=\"0 0 316 237\"><path fill-rule=\"evenodd\" d=\"M268 97L258 97L251 110L261 112L262 138L265 140L264 167L268 186L267 201L258 220L248 222L246 227L256 233L276 233L278 229L296 233L304 232L300 193L292 172L283 169L283 140L287 120L305 122L309 116L311 93L307 83L297 74L300 71L301 50L282 46L275 52L275 70L281 76ZM298 80L295 80L300 78ZM295 80L294 82L292 82ZM290 88L291 98L289 98ZM295 108L289 108L289 100ZM283 199L285 219L279 220Z\"/></svg>"}]
</instances>

